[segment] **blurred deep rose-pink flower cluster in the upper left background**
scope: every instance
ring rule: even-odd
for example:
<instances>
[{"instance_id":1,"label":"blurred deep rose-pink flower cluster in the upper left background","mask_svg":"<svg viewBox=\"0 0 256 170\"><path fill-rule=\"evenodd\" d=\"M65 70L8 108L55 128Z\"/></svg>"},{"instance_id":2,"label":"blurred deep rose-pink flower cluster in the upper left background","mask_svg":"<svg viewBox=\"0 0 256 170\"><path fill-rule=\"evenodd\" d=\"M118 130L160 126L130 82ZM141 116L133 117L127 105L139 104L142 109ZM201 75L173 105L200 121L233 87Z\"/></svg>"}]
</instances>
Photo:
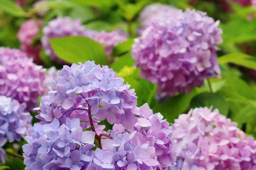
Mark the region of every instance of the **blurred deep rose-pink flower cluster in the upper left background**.
<instances>
[{"instance_id":1,"label":"blurred deep rose-pink flower cluster in the upper left background","mask_svg":"<svg viewBox=\"0 0 256 170\"><path fill-rule=\"evenodd\" d=\"M33 45L35 37L42 27L42 20L30 19L24 22L20 26L20 30L17 34L18 39L20 40L21 49L27 54L28 57L32 57L36 63L40 63L40 50L41 44Z\"/></svg>"}]
</instances>

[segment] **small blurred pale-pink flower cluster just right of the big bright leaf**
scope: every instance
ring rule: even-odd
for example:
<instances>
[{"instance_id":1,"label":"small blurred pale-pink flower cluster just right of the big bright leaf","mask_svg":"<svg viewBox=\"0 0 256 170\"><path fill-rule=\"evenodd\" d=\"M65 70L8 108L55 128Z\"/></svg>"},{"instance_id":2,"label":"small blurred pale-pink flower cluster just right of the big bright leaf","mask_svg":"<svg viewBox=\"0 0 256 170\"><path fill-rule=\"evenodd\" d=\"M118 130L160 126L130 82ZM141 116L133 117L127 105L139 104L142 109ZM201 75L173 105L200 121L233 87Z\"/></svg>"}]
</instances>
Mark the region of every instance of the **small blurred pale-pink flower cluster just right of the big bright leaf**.
<instances>
[{"instance_id":1,"label":"small blurred pale-pink flower cluster just right of the big bright leaf","mask_svg":"<svg viewBox=\"0 0 256 170\"><path fill-rule=\"evenodd\" d=\"M120 42L124 42L127 40L127 34L122 32L121 30L116 30L112 32L102 31L95 33L93 39L102 44L105 48L106 54L110 56L112 54L114 46L116 46Z\"/></svg>"}]
</instances>

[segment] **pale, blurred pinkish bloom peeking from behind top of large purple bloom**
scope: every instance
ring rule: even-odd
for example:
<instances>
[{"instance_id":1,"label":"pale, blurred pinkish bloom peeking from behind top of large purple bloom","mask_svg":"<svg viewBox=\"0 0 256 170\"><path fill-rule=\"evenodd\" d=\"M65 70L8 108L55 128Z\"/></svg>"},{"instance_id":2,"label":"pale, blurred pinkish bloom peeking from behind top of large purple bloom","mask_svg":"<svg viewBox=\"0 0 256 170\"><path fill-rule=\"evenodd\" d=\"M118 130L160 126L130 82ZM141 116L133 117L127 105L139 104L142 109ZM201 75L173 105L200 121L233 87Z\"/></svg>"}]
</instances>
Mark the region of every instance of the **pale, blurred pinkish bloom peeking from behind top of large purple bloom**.
<instances>
[{"instance_id":1,"label":"pale, blurred pinkish bloom peeking from behind top of large purple bloom","mask_svg":"<svg viewBox=\"0 0 256 170\"><path fill-rule=\"evenodd\" d=\"M150 4L139 14L138 20L142 22L142 27L139 28L138 33L141 35L152 22L157 22L158 20L163 20L164 18L169 19L170 17L179 15L182 15L182 10L170 5L163 5L160 3Z\"/></svg>"}]
</instances>

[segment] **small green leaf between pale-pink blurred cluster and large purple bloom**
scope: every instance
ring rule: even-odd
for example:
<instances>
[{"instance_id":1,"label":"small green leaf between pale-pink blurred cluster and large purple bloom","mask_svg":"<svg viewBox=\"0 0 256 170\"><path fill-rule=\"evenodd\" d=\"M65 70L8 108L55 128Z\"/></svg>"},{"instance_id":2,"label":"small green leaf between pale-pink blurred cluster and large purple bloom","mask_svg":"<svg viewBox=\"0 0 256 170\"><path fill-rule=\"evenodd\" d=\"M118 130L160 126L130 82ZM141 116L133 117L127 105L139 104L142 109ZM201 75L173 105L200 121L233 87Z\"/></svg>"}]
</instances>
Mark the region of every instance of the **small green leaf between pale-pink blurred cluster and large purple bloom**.
<instances>
[{"instance_id":1,"label":"small green leaf between pale-pink blurred cluster and large purple bloom","mask_svg":"<svg viewBox=\"0 0 256 170\"><path fill-rule=\"evenodd\" d=\"M117 46L114 47L114 49L113 49L112 56L116 57L116 56L119 56L121 54L124 54L124 53L130 51L132 49L132 44L133 43L134 43L134 39L131 38L131 39L128 39L127 41L125 41L125 42L121 42L121 43L117 44Z\"/></svg>"}]
</instances>

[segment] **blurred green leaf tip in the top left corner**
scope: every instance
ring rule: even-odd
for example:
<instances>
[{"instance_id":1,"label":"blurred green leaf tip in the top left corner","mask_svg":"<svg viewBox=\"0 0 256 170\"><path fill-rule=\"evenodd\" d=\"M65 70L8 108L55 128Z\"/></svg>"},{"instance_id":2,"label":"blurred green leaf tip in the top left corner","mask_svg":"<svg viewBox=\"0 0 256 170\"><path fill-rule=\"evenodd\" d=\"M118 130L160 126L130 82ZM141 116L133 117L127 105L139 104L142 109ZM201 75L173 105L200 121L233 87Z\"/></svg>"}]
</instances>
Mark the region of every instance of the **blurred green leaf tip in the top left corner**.
<instances>
[{"instance_id":1,"label":"blurred green leaf tip in the top left corner","mask_svg":"<svg viewBox=\"0 0 256 170\"><path fill-rule=\"evenodd\" d=\"M27 13L12 0L0 0L0 10L15 17L27 17Z\"/></svg>"}]
</instances>

